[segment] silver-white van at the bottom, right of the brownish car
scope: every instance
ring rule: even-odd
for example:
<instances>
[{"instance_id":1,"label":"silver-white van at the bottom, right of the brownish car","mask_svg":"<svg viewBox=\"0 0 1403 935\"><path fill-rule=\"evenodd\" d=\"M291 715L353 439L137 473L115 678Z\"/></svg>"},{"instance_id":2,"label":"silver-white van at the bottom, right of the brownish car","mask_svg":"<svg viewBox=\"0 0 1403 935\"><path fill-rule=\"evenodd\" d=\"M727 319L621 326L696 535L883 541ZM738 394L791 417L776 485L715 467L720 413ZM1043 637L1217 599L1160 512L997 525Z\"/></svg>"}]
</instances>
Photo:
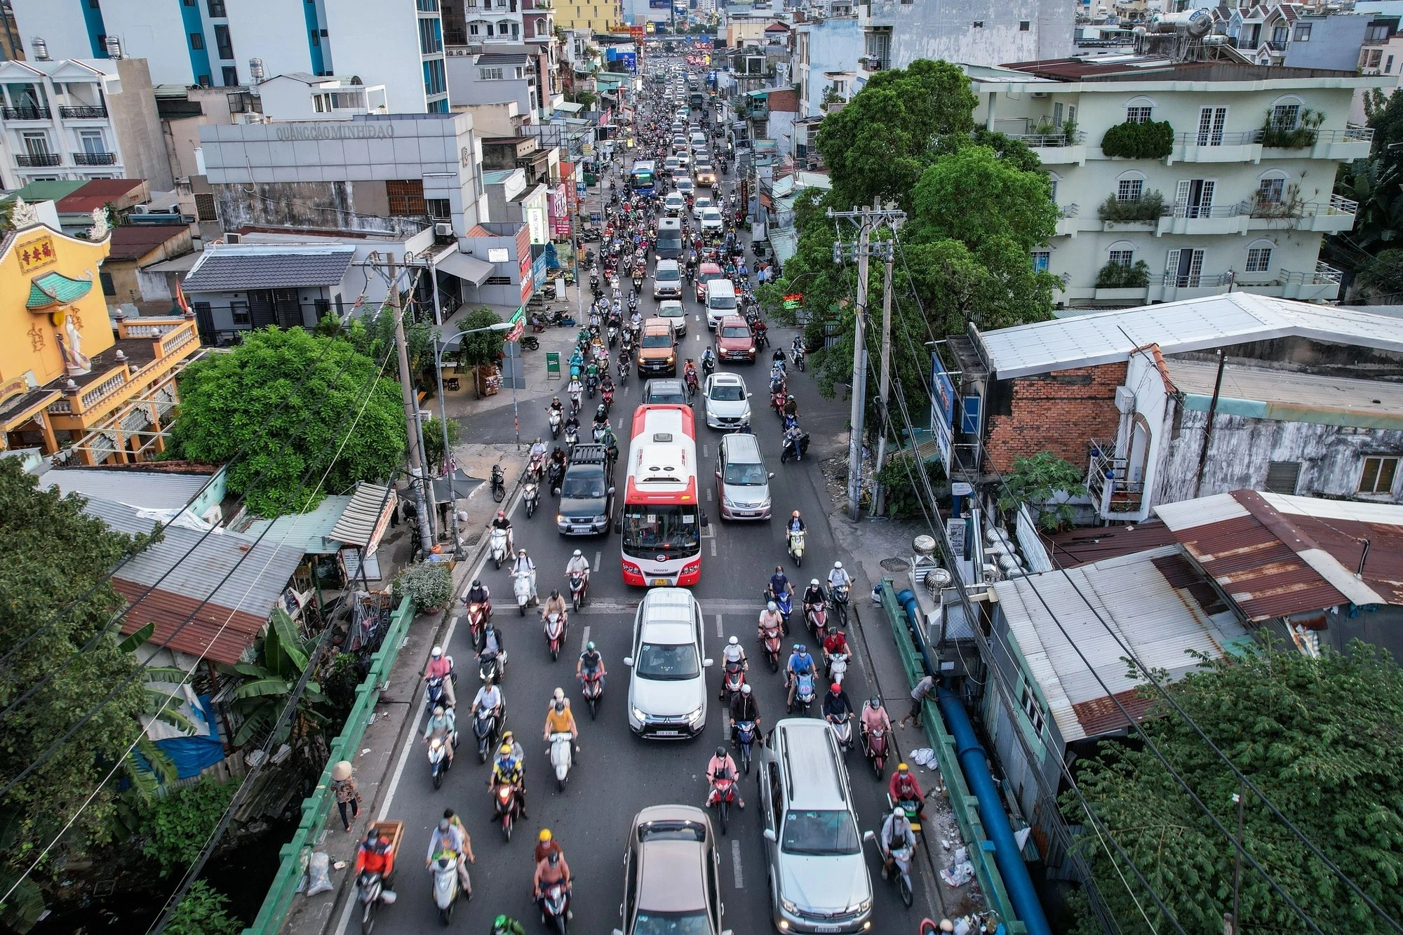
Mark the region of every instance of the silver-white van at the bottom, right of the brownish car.
<instances>
[{"instance_id":1,"label":"silver-white van at the bottom, right of the brownish car","mask_svg":"<svg viewBox=\"0 0 1403 935\"><path fill-rule=\"evenodd\" d=\"M760 747L759 768L774 928L868 931L873 882L847 768L832 729L814 717L780 720ZM824 925L815 928L811 920L824 920Z\"/></svg>"}]
</instances>

